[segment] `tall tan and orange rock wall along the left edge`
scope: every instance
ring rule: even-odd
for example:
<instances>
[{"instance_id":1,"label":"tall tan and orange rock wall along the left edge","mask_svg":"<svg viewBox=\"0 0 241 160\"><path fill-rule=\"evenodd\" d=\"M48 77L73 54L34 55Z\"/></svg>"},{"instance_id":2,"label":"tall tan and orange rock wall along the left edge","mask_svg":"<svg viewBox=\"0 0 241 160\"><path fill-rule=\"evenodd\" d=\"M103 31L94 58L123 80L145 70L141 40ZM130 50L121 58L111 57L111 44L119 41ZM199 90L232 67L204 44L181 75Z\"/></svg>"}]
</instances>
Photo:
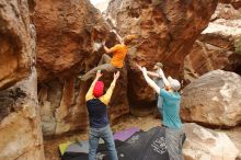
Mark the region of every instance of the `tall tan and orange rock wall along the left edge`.
<instances>
[{"instance_id":1,"label":"tall tan and orange rock wall along the left edge","mask_svg":"<svg viewBox=\"0 0 241 160\"><path fill-rule=\"evenodd\" d=\"M0 160L44 160L32 0L0 1Z\"/></svg>"}]
</instances>

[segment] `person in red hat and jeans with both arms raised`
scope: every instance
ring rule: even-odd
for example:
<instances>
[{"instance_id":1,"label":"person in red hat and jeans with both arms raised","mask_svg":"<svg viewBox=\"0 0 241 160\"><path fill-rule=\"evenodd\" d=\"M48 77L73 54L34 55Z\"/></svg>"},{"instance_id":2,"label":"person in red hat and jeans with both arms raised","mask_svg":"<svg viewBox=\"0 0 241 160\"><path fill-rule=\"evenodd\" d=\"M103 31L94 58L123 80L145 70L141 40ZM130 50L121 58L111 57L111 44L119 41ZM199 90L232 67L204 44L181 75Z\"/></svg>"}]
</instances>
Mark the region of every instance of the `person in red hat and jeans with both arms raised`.
<instances>
[{"instance_id":1,"label":"person in red hat and jeans with both arms raised","mask_svg":"<svg viewBox=\"0 0 241 160\"><path fill-rule=\"evenodd\" d=\"M118 160L115 149L112 129L108 124L107 106L111 100L116 81L119 77L119 71L114 73L114 79L104 94L104 83L99 81L102 77L101 71L96 72L96 77L92 82L87 95L87 107L89 113L90 129L89 129L89 160L95 160L99 139L102 138L107 145L111 160Z\"/></svg>"}]
</instances>

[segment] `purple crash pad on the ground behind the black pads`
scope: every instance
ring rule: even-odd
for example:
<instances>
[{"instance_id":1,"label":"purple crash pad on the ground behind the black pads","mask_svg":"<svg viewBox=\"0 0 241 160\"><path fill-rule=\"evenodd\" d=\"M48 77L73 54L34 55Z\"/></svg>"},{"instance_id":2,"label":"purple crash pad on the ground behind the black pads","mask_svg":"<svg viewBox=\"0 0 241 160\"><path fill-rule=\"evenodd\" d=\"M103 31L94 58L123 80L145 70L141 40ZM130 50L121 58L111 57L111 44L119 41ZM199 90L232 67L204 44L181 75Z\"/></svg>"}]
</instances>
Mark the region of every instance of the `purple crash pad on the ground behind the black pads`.
<instances>
[{"instance_id":1,"label":"purple crash pad on the ground behind the black pads","mask_svg":"<svg viewBox=\"0 0 241 160\"><path fill-rule=\"evenodd\" d=\"M135 133L139 132L140 128L131 127L127 128L125 130L119 130L114 134L114 139L125 141L128 139L130 136L133 136Z\"/></svg>"}]
</instances>

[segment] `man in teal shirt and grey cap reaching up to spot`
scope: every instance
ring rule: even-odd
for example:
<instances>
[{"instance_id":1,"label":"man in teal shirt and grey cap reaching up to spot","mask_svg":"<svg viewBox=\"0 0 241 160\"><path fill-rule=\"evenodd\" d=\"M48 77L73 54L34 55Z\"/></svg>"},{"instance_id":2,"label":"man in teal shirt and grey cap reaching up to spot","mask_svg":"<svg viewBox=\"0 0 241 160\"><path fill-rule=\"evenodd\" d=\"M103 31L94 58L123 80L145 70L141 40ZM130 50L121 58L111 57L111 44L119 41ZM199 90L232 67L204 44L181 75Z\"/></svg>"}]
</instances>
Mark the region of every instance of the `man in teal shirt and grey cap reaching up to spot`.
<instances>
[{"instance_id":1,"label":"man in teal shirt and grey cap reaching up to spot","mask_svg":"<svg viewBox=\"0 0 241 160\"><path fill-rule=\"evenodd\" d=\"M170 156L170 160L184 160L182 153L183 142L185 140L185 134L182 128L182 122L180 118L180 102L181 95L179 90L181 89L181 83L176 79L164 76L162 69L159 70L160 77L163 79L164 85L169 88L162 89L154 83L148 76L148 71L145 67L141 67L144 78L147 83L163 99L162 115L163 123L162 126L165 129L165 141L167 148Z\"/></svg>"}]
</instances>

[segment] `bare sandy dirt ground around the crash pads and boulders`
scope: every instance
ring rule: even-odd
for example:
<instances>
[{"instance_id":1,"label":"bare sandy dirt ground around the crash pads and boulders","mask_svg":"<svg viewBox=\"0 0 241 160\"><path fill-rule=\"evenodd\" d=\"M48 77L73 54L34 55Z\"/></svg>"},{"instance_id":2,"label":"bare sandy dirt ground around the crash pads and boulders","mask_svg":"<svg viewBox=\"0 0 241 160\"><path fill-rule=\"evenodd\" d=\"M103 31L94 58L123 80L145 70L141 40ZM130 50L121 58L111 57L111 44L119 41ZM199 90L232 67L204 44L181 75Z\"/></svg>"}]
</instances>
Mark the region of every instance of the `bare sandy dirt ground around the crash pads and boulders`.
<instances>
[{"instance_id":1,"label":"bare sandy dirt ground around the crash pads and boulders","mask_svg":"<svg viewBox=\"0 0 241 160\"><path fill-rule=\"evenodd\" d=\"M122 130L128 127L139 127L142 130L148 130L154 126L160 126L161 121L158 118L153 118L153 116L147 117L135 117L130 115L126 115L118 119L115 125L112 126L113 133L117 130ZM234 142L237 148L241 151L241 127L229 129L229 130L217 130L226 133L231 140ZM45 157L46 160L60 160L58 145L67 141L74 140L85 140L88 139L87 132L80 134L73 134L71 136L65 136L58 139L45 140Z\"/></svg>"}]
</instances>

